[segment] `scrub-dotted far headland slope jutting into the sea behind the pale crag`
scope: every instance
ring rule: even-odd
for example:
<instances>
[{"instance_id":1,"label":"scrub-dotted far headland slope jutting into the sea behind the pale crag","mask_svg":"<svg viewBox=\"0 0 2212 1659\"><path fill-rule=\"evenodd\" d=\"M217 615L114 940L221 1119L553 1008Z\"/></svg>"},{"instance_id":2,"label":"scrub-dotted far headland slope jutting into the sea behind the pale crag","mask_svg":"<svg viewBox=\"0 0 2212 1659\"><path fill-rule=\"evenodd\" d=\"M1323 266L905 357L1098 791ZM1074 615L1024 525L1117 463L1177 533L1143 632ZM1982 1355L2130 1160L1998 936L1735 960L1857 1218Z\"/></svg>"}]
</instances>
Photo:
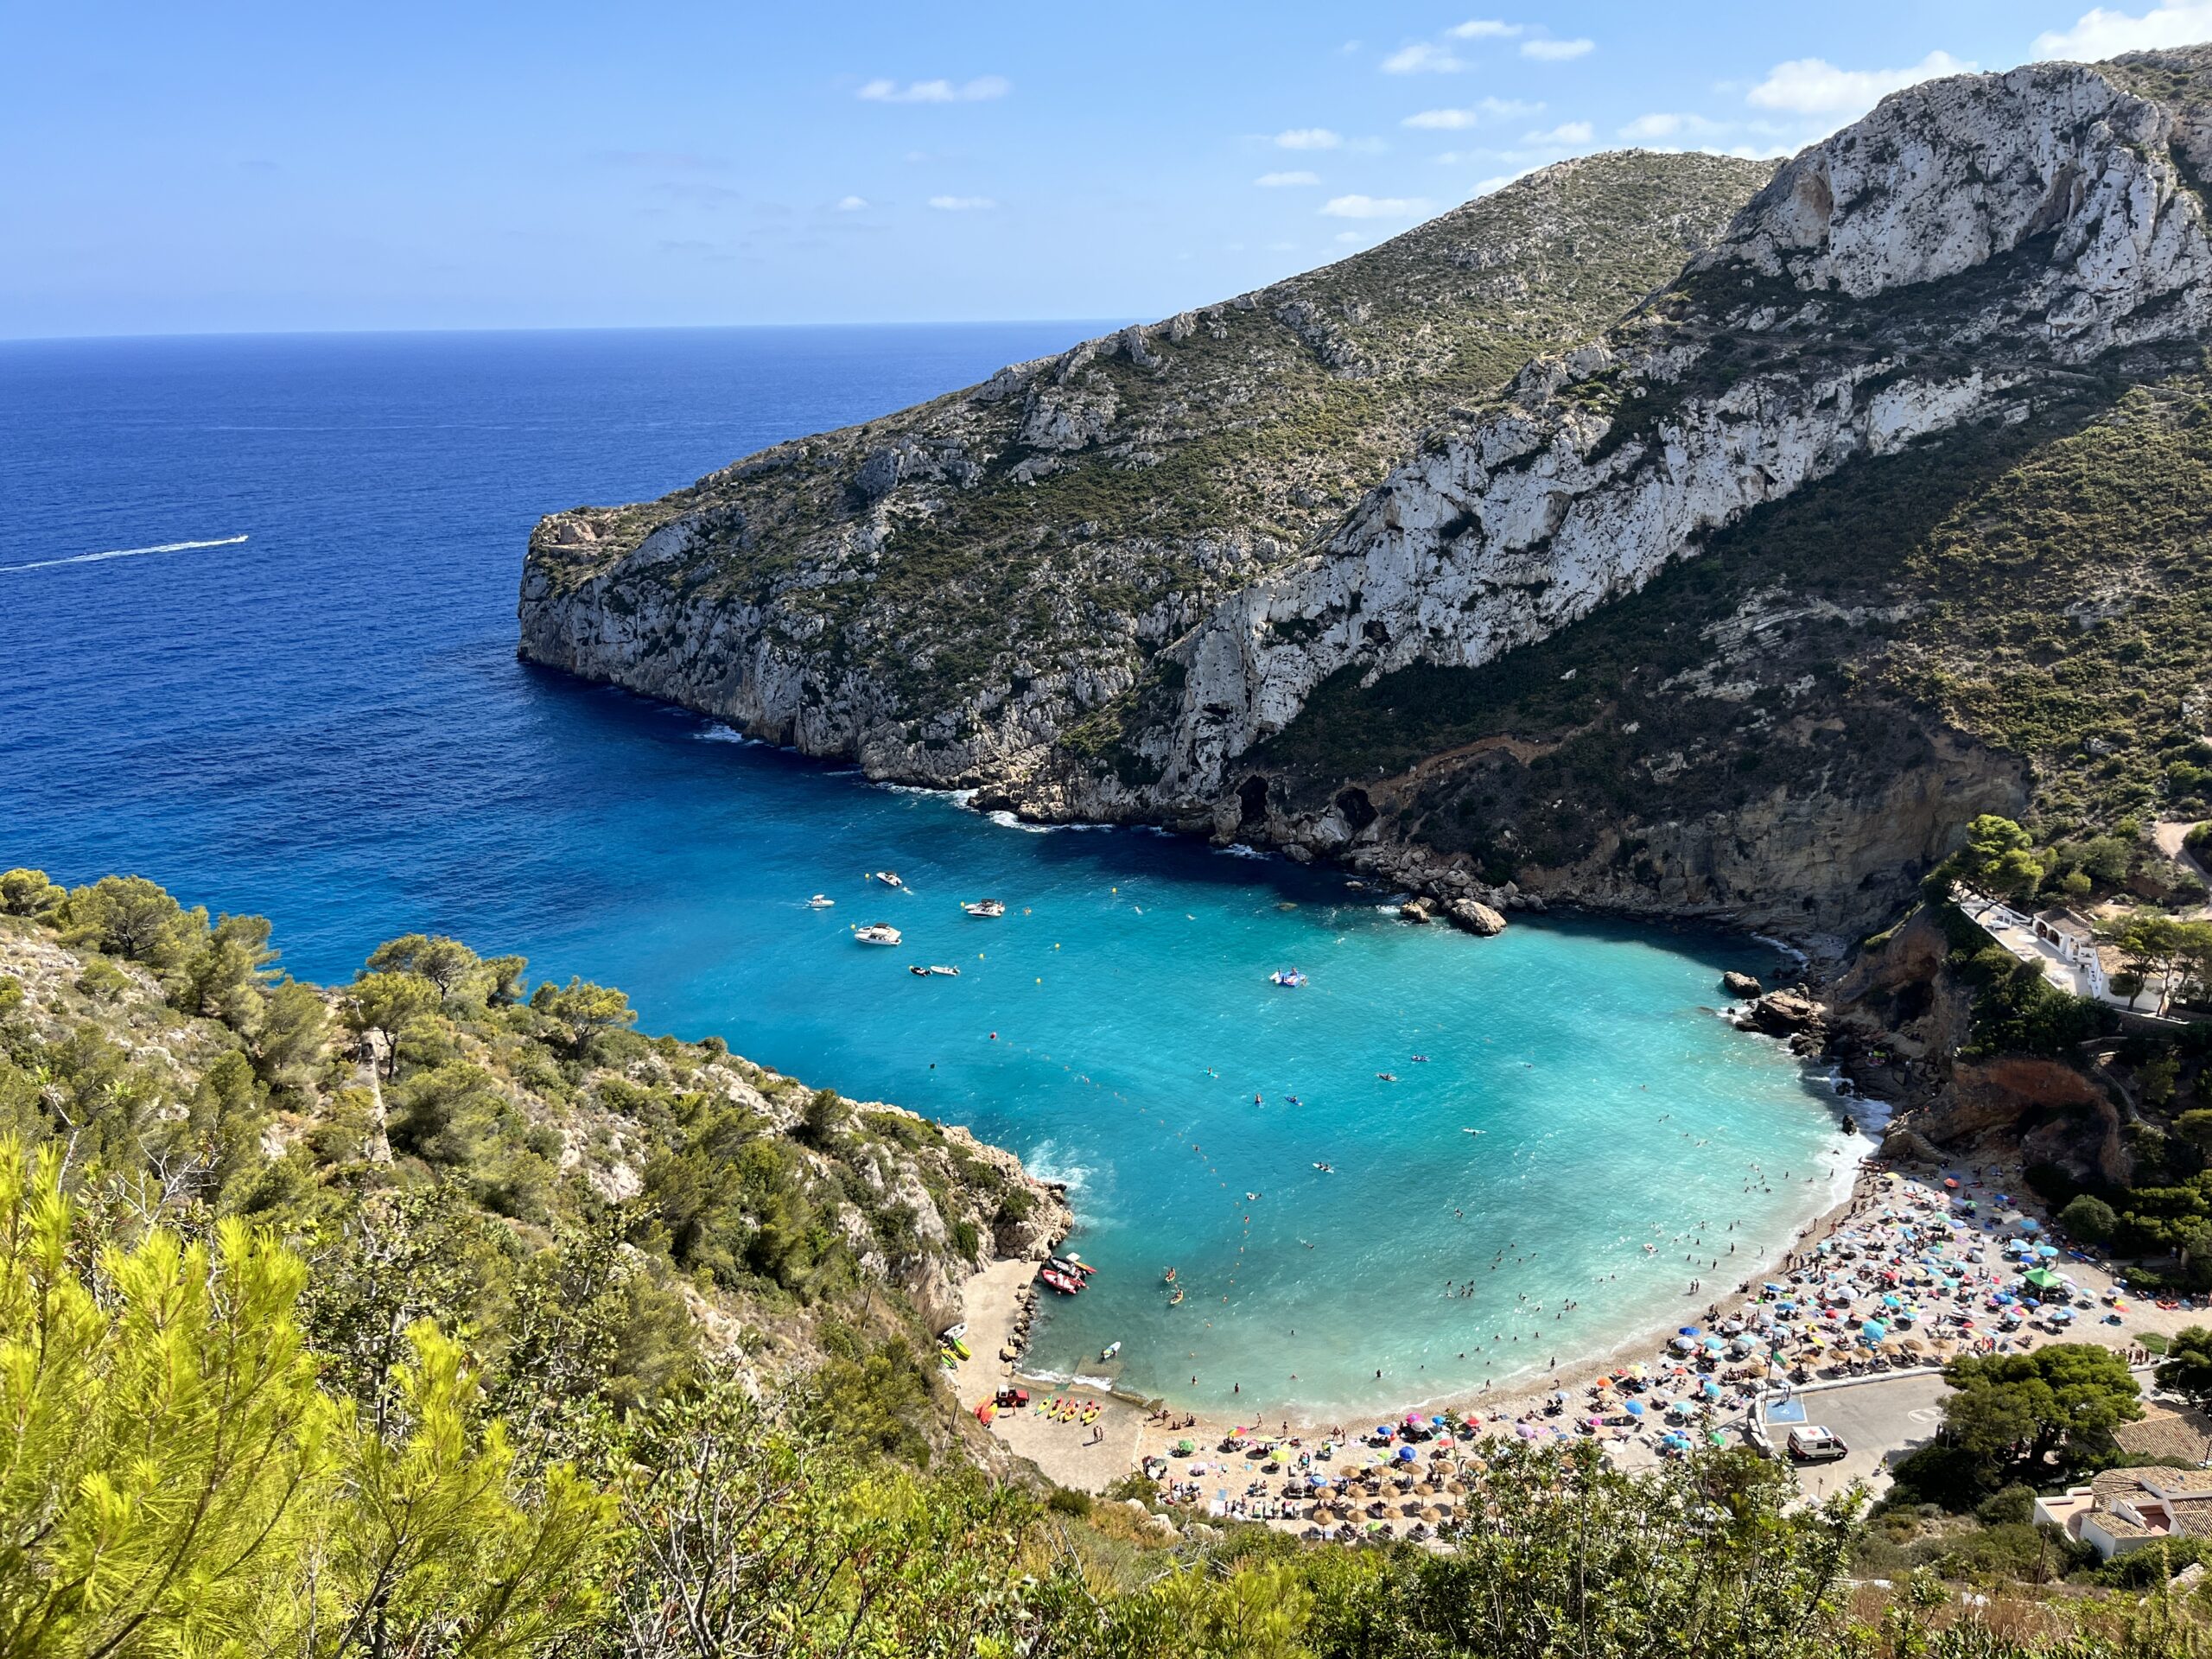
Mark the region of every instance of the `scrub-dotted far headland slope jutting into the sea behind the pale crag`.
<instances>
[{"instance_id":1,"label":"scrub-dotted far headland slope jutting into the sea behind the pale crag","mask_svg":"<svg viewBox=\"0 0 2212 1659\"><path fill-rule=\"evenodd\" d=\"M880 776L1022 776L1110 737L1221 597L1318 546L1447 409L1666 283L1770 173L1568 161L661 502L555 513L522 655Z\"/></svg>"}]
</instances>

